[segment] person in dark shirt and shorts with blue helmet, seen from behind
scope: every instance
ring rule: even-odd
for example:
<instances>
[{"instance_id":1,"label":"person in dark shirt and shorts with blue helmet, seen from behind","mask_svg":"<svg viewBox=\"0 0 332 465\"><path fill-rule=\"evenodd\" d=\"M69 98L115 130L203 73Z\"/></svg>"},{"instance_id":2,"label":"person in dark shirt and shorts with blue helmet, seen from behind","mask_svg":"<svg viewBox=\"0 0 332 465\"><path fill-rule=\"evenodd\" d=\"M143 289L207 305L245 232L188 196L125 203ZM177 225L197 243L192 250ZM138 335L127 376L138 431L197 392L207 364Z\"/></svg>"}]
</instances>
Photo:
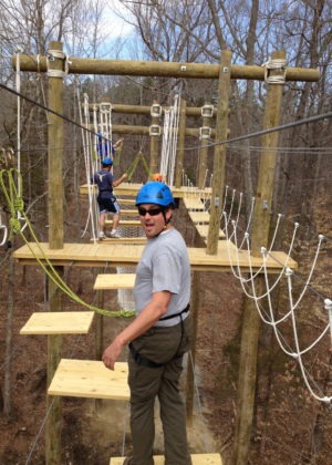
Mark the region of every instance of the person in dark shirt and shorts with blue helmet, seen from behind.
<instances>
[{"instance_id":1,"label":"person in dark shirt and shorts with blue helmet, seen from behind","mask_svg":"<svg viewBox=\"0 0 332 465\"><path fill-rule=\"evenodd\" d=\"M113 227L110 234L111 237L120 237L117 226L120 221L120 205L116 202L116 197L113 194L113 187L117 187L128 176L123 174L118 179L114 179L111 173L113 161L110 157L103 159L102 169L93 175L92 182L98 187L97 203L100 207L100 220L98 220L98 238L105 239L105 219L106 215L111 213L113 215Z\"/></svg>"}]
</instances>

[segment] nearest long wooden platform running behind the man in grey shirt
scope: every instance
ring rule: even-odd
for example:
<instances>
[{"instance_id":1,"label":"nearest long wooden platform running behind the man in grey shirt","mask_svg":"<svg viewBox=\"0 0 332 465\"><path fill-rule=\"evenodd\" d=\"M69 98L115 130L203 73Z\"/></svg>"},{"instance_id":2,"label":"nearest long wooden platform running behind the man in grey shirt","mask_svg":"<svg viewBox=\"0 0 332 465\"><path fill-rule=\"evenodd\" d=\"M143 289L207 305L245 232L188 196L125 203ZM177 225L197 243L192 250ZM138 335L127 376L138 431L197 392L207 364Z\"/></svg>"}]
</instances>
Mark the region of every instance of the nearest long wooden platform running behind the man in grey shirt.
<instances>
[{"instance_id":1,"label":"nearest long wooden platform running behind the man in grey shirt","mask_svg":"<svg viewBox=\"0 0 332 465\"><path fill-rule=\"evenodd\" d=\"M31 247L32 251L30 250ZM30 242L13 251L13 257L22 265L37 266L35 257L42 260L42 254L34 242ZM62 249L51 250L49 244L40 245L43 252L51 260L52 265L73 266L73 267L105 267L105 265L115 267L135 267L142 256L143 245L117 244L64 244ZM236 264L236 250L230 244L231 257ZM217 255L207 255L205 248L188 248L191 268L197 271L229 271L230 262L228 258L227 240L219 242ZM280 272L287 255L282 251L273 251L272 257L268 258L267 267L270 273ZM251 266L256 271L261 267L261 257L252 257ZM249 271L247 251L239 252L239 265L242 272ZM290 268L297 268L294 260L289 260Z\"/></svg>"}]
</instances>

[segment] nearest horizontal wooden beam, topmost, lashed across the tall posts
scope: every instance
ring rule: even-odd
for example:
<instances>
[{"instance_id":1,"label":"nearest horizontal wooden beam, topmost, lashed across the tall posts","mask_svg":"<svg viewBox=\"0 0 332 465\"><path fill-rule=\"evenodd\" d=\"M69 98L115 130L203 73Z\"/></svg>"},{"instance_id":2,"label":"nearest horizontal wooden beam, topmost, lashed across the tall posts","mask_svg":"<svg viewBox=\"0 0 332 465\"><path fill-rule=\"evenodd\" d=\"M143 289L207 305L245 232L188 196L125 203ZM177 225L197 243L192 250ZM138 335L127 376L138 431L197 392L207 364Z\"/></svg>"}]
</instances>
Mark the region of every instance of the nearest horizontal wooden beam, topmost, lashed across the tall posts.
<instances>
[{"instance_id":1,"label":"nearest horizontal wooden beam, topmost, lashed across the tall posts","mask_svg":"<svg viewBox=\"0 0 332 465\"><path fill-rule=\"evenodd\" d=\"M17 55L11 59L15 69ZM173 63L160 61L138 60L97 60L70 56L68 62L70 74L98 74L98 75L129 75L129 76L160 76L160 78L190 78L190 79L219 79L219 64L205 63ZM46 72L46 56L20 55L20 70L30 72ZM264 80L264 68L258 65L230 66L231 79ZM288 68L286 81L317 82L320 79L319 70L303 68Z\"/></svg>"}]
</instances>

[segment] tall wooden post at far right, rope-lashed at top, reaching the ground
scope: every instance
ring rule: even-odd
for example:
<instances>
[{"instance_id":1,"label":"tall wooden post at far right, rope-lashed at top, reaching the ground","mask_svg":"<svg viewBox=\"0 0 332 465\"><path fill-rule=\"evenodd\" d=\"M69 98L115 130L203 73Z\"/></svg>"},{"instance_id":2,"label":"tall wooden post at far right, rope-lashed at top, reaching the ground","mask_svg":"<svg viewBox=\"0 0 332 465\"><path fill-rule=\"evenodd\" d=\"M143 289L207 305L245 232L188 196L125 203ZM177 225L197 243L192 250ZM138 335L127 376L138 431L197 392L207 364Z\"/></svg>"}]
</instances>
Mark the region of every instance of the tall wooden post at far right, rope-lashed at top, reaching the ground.
<instances>
[{"instance_id":1,"label":"tall wooden post at far right, rope-lashed at top, reaching the ground","mask_svg":"<svg viewBox=\"0 0 332 465\"><path fill-rule=\"evenodd\" d=\"M284 51L274 52L273 59L284 59ZM274 71L278 73L278 71ZM272 73L271 73L272 74ZM280 125L280 108L282 99L282 84L270 84L266 100L266 113L263 128ZM262 137L262 148L259 166L257 187L257 203L252 221L251 248L252 254L258 255L260 247L267 247L270 228L271 200L273 196L273 180L276 168L276 153L279 133L274 132ZM257 292L263 289L263 277L259 277ZM235 435L235 461L236 465L248 463L248 452L252 428L256 378L257 378L257 352L259 340L260 317L256 304L248 299L245 304L241 352L238 380L238 416Z\"/></svg>"}]
</instances>

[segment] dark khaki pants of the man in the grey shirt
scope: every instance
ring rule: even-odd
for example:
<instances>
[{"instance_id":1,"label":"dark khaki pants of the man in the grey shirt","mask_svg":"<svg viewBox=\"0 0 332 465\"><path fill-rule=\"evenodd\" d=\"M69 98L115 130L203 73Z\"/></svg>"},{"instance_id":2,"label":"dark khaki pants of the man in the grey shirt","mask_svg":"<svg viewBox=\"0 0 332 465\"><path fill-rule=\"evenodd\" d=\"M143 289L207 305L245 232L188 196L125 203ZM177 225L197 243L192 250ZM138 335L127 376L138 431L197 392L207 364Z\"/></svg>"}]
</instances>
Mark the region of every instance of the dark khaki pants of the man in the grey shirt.
<instances>
[{"instance_id":1,"label":"dark khaki pants of the man in the grey shirt","mask_svg":"<svg viewBox=\"0 0 332 465\"><path fill-rule=\"evenodd\" d=\"M133 465L153 465L155 438L154 405L158 396L164 431L165 465L190 465L187 447L186 415L178 382L183 371L183 355L189 349L190 317L169 328L152 328L133 341L142 356L159 368L138 365L128 359L131 388L131 430Z\"/></svg>"}]
</instances>

